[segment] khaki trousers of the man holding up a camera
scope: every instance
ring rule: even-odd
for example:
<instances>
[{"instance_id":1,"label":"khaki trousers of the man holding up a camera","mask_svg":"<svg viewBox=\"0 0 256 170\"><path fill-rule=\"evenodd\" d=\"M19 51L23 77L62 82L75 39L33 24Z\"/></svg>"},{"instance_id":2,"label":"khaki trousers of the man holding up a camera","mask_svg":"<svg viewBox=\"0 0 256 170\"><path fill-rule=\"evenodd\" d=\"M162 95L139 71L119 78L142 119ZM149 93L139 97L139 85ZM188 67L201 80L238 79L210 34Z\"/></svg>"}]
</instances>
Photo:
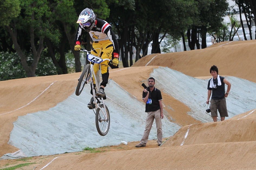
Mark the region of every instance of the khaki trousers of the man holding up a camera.
<instances>
[{"instance_id":1,"label":"khaki trousers of the man holding up a camera","mask_svg":"<svg viewBox=\"0 0 256 170\"><path fill-rule=\"evenodd\" d=\"M140 140L140 143L143 145L146 145L148 138L149 138L149 132L151 130L152 124L154 122L154 119L156 120L156 129L157 129L157 143L162 144L162 121L160 116L160 109L154 112L147 112L146 117L146 126L144 130L144 134Z\"/></svg>"}]
</instances>

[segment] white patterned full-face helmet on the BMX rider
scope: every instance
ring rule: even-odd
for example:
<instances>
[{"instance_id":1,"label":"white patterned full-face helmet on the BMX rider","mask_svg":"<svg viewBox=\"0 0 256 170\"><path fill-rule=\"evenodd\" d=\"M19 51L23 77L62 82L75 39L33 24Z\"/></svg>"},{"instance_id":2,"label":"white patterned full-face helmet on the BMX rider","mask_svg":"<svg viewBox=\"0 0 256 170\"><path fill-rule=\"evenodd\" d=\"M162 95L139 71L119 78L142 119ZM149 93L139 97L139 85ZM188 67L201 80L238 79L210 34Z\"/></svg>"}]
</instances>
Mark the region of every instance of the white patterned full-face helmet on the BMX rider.
<instances>
[{"instance_id":1,"label":"white patterned full-face helmet on the BMX rider","mask_svg":"<svg viewBox=\"0 0 256 170\"><path fill-rule=\"evenodd\" d=\"M80 13L76 23L81 23L84 29L87 32L90 32L91 29L93 29L93 27L95 26L95 21L96 21L96 16L93 10L86 8Z\"/></svg>"}]
</instances>

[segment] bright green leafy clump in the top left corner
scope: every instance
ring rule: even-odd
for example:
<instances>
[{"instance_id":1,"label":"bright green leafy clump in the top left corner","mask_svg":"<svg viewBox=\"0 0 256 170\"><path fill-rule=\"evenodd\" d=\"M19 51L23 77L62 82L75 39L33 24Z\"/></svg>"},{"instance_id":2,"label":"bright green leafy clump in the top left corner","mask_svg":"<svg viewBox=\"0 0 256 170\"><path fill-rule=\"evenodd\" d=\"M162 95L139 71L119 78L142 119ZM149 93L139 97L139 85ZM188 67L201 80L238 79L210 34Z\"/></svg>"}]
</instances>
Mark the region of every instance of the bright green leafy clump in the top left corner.
<instances>
[{"instance_id":1,"label":"bright green leafy clump in the top left corner","mask_svg":"<svg viewBox=\"0 0 256 170\"><path fill-rule=\"evenodd\" d=\"M19 13L19 0L0 0L0 26L9 25Z\"/></svg>"}]
</instances>

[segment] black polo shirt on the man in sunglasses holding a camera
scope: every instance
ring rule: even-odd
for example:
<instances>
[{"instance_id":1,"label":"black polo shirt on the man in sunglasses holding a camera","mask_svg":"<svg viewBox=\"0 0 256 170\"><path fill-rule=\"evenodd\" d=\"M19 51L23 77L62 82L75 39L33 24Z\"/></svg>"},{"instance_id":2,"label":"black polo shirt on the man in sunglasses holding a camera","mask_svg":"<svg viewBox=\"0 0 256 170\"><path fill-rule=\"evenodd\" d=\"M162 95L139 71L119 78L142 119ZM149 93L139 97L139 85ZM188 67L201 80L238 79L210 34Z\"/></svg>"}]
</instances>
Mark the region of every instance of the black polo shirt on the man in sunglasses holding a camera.
<instances>
[{"instance_id":1,"label":"black polo shirt on the man in sunglasses holding a camera","mask_svg":"<svg viewBox=\"0 0 256 170\"><path fill-rule=\"evenodd\" d=\"M162 94L161 91L154 87L152 92L150 92L149 87L147 88L149 91L150 98L152 99L151 104L146 104L146 110L145 112L154 112L156 110L160 109L159 100L162 100ZM143 91L142 93L142 99L146 97L146 93Z\"/></svg>"}]
</instances>

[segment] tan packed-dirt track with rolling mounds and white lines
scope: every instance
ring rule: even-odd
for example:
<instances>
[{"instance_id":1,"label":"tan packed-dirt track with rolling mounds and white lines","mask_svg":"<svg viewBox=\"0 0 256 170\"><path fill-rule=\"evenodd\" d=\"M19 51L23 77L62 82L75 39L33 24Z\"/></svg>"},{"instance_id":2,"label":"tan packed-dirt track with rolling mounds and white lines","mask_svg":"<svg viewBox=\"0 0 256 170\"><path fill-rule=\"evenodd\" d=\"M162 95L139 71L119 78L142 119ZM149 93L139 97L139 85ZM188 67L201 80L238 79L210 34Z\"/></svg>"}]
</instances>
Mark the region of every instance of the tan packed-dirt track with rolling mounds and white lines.
<instances>
[{"instance_id":1,"label":"tan packed-dirt track with rolling mounds and white lines","mask_svg":"<svg viewBox=\"0 0 256 170\"><path fill-rule=\"evenodd\" d=\"M204 77L210 76L209 68L212 65L217 65L220 75L256 82L255 46L256 40L222 42L202 50L151 54L140 59L131 68L118 72L110 70L110 78L137 98L141 98L141 91L135 87L147 79L153 68L158 66L169 67L192 77ZM136 72L140 74L137 75ZM18 116L47 110L66 99L74 92L79 76L80 73L74 73L0 82L0 156L17 151L17 148L7 144L12 122ZM50 92L27 105L54 81L56 83L52 84ZM186 114L189 108L183 103L168 95L163 95L163 100L176 110L172 117L183 127L160 148L155 141L150 141L144 148L135 148L134 145L138 142L133 142L125 146L121 144L101 148L109 152L33 157L29 160L38 163L23 169L37 166L35 169L39 170L58 156L60 157L44 169L99 169L99 162L100 167L104 166L106 169L255 169L254 110L224 122L200 123ZM185 138L188 131L189 135ZM40 163L41 158L45 162ZM20 161L17 163L15 160L2 160L0 168L7 163L11 164L8 166L13 166Z\"/></svg>"}]
</instances>

